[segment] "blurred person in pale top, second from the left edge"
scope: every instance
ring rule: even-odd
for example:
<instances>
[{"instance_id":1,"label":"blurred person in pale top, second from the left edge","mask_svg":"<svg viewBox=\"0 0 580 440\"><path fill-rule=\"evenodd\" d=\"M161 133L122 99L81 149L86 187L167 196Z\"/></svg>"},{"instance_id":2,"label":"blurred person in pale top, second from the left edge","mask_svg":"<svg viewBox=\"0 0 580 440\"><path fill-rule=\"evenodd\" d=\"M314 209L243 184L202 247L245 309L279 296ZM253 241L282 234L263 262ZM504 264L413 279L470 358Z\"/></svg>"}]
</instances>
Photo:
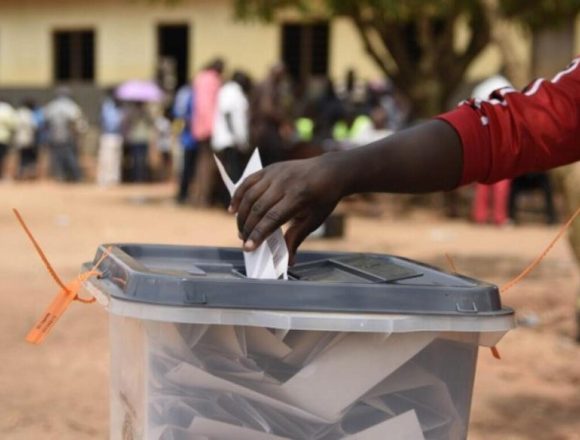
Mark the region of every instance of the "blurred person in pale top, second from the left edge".
<instances>
[{"instance_id":1,"label":"blurred person in pale top, second from the left edge","mask_svg":"<svg viewBox=\"0 0 580 440\"><path fill-rule=\"evenodd\" d=\"M17 179L34 179L38 159L37 119L34 115L35 103L27 99L16 110L16 130L14 146L18 151L19 163L16 172Z\"/></svg>"}]
</instances>

